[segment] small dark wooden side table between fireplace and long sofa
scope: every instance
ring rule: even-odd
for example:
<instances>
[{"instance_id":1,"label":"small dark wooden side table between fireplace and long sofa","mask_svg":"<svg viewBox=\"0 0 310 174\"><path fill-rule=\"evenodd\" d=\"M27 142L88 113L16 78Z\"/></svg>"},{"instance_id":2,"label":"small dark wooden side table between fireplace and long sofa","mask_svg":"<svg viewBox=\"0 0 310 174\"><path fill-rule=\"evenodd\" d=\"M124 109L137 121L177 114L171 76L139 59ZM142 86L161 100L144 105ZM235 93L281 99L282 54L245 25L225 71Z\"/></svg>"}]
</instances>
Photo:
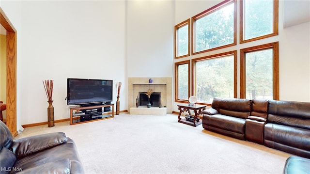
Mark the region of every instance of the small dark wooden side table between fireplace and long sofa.
<instances>
[{"instance_id":1,"label":"small dark wooden side table between fireplace and long sofa","mask_svg":"<svg viewBox=\"0 0 310 174\"><path fill-rule=\"evenodd\" d=\"M193 127L197 127L199 125L202 124L202 120L200 118L197 118L197 116L199 116L200 114L202 114L202 111L205 110L205 107L206 105L197 105L197 104L181 104L181 105L178 105L179 107L179 123L184 123L186 125L190 125L190 126L193 126ZM195 113L195 116L191 116L190 115L190 110L193 110L194 113ZM189 114L189 120L187 120L186 118L184 119L181 119L181 114L182 112L185 112L185 111L188 111L188 114ZM198 120L199 119L199 120ZM192 121L190 121L192 120Z\"/></svg>"}]
</instances>

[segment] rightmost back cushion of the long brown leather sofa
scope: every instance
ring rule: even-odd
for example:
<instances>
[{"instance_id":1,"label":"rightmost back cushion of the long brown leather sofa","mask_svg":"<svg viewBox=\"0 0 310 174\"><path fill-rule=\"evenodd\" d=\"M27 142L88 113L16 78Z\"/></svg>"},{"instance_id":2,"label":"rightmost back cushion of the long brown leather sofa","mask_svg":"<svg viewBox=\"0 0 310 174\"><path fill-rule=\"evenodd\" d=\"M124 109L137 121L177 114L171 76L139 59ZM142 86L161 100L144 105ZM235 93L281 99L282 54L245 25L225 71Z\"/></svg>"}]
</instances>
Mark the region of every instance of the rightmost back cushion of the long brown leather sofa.
<instances>
[{"instance_id":1,"label":"rightmost back cushion of the long brown leather sofa","mask_svg":"<svg viewBox=\"0 0 310 174\"><path fill-rule=\"evenodd\" d=\"M310 130L310 103L269 100L267 122Z\"/></svg>"}]
</instances>

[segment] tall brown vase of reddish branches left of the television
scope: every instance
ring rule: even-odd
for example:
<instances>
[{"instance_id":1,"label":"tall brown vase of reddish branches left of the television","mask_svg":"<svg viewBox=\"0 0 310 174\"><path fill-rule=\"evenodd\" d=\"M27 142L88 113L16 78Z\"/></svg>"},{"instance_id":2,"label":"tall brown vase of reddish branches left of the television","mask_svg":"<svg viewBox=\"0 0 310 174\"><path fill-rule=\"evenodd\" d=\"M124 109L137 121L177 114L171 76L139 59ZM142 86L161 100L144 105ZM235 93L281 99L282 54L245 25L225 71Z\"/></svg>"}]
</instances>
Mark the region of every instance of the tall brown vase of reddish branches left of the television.
<instances>
[{"instance_id":1,"label":"tall brown vase of reddish branches left of the television","mask_svg":"<svg viewBox=\"0 0 310 174\"><path fill-rule=\"evenodd\" d=\"M43 86L47 95L47 125L48 127L54 126L54 107L53 107L53 87L54 80L43 80Z\"/></svg>"}]
</instances>

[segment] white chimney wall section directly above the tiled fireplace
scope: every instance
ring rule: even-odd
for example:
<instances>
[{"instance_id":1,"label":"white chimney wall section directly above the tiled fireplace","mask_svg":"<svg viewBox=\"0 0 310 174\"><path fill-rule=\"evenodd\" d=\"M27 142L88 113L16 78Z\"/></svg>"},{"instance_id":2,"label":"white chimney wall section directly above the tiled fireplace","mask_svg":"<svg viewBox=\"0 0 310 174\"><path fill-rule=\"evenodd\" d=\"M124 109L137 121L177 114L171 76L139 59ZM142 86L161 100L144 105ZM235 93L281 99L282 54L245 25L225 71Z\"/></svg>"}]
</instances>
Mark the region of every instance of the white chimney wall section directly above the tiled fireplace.
<instances>
[{"instance_id":1,"label":"white chimney wall section directly above the tiled fireplace","mask_svg":"<svg viewBox=\"0 0 310 174\"><path fill-rule=\"evenodd\" d=\"M128 77L172 77L174 1L126 2Z\"/></svg>"}]
</instances>

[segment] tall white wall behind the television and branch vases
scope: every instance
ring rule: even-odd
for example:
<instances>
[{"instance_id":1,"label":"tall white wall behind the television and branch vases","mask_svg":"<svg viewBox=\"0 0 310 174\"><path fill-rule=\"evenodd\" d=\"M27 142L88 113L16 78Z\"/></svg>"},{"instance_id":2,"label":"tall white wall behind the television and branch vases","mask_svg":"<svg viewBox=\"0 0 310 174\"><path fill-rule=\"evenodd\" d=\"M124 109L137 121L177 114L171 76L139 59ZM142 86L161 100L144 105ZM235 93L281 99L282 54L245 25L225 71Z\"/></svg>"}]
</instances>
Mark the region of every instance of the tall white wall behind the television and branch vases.
<instances>
[{"instance_id":1,"label":"tall white wall behind the television and branch vases","mask_svg":"<svg viewBox=\"0 0 310 174\"><path fill-rule=\"evenodd\" d=\"M16 17L6 8L12 5L3 4L9 19ZM126 80L124 1L22 1L21 7L21 23L12 20L22 26L17 28L21 125L47 121L42 80L54 80L55 120L69 118L67 78ZM126 96L123 88L120 110L127 109ZM115 103L115 90L113 98Z\"/></svg>"}]
</instances>

